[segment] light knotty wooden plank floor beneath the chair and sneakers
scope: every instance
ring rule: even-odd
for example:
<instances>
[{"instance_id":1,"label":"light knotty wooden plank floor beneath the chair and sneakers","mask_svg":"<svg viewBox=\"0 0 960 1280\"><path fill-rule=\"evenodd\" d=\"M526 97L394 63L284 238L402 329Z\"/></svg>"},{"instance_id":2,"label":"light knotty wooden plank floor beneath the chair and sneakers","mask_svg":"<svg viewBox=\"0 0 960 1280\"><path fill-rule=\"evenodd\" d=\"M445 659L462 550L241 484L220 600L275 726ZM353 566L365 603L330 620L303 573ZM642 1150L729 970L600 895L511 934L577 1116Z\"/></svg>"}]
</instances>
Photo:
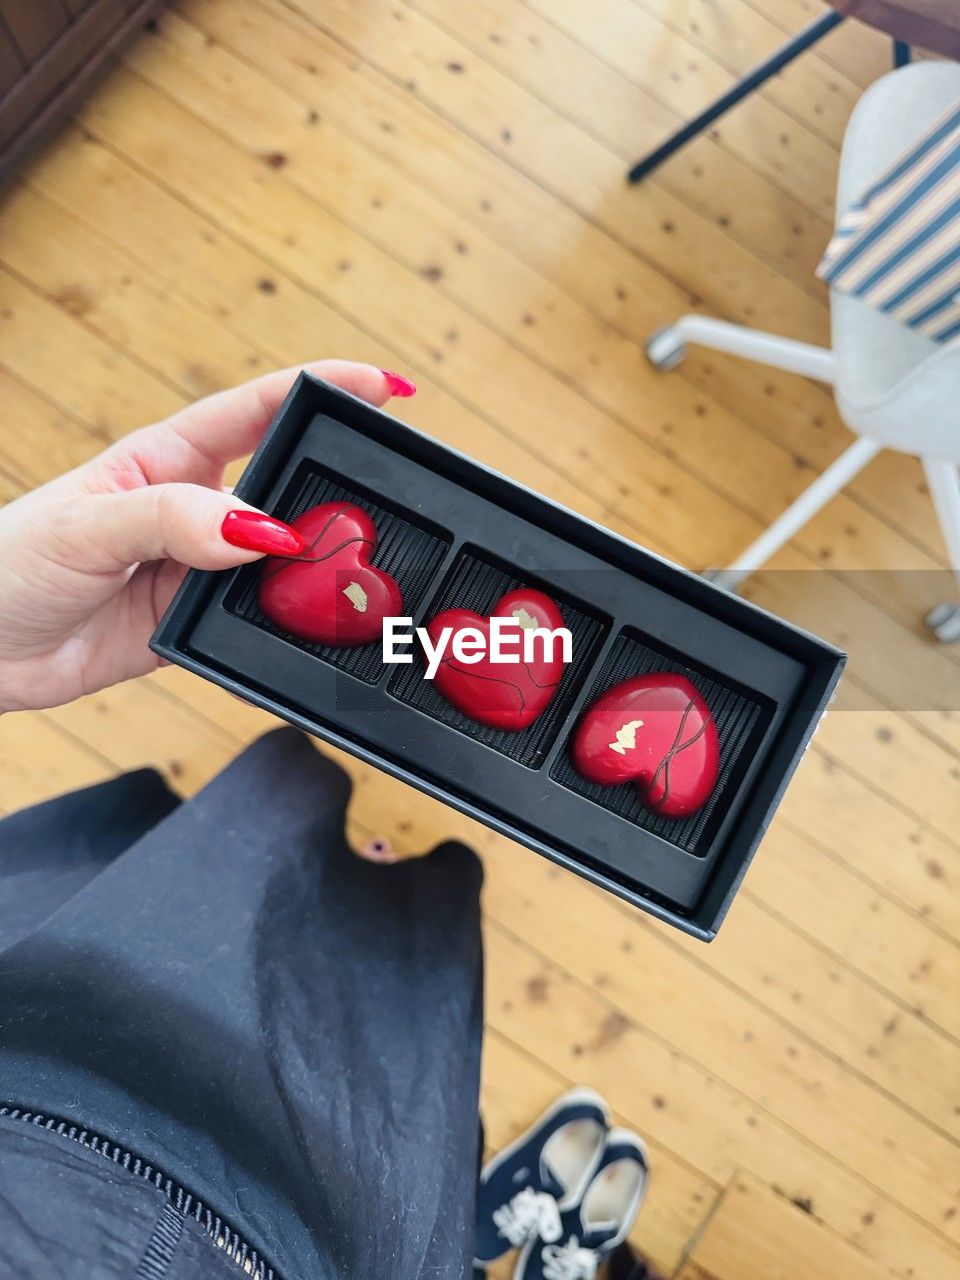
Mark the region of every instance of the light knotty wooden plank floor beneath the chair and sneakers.
<instances>
[{"instance_id":1,"label":"light knotty wooden plank floor beneath the chair and sneakers","mask_svg":"<svg viewBox=\"0 0 960 1280\"><path fill-rule=\"evenodd\" d=\"M810 383L690 353L691 307L826 340L847 24L640 189L625 164L817 0L183 0L0 206L0 485L319 355L416 425L694 568L847 443ZM877 460L749 594L851 650L719 940L689 942L344 762L355 835L483 854L498 1147L571 1083L649 1143L637 1245L690 1280L960 1276L960 649L920 472ZM886 572L883 572L886 571ZM0 721L10 810L268 726L179 671Z\"/></svg>"}]
</instances>

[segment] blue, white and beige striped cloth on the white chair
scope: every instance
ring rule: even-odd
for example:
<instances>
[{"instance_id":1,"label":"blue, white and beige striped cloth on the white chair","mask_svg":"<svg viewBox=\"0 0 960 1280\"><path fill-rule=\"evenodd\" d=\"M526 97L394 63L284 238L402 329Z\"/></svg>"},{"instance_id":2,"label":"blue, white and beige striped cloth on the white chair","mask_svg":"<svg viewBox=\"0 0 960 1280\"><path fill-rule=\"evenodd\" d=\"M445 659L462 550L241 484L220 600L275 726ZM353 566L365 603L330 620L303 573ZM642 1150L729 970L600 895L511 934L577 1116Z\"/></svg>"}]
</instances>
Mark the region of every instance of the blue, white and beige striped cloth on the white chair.
<instances>
[{"instance_id":1,"label":"blue, white and beige striped cloth on the white chair","mask_svg":"<svg viewBox=\"0 0 960 1280\"><path fill-rule=\"evenodd\" d=\"M817 274L934 342L960 335L960 102L842 214Z\"/></svg>"}]
</instances>

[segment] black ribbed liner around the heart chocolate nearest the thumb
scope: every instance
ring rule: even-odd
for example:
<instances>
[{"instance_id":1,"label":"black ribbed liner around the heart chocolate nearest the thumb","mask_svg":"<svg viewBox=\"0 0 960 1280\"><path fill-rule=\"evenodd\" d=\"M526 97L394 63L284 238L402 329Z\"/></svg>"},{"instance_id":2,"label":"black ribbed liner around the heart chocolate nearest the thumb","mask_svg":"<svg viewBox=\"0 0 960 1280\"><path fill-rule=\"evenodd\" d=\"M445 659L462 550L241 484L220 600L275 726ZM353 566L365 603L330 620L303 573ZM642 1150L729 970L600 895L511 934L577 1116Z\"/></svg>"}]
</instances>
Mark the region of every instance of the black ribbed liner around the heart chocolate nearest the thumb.
<instances>
[{"instance_id":1,"label":"black ribbed liner around the heart chocolate nearest the thumb","mask_svg":"<svg viewBox=\"0 0 960 1280\"><path fill-rule=\"evenodd\" d=\"M372 517L379 539L370 563L397 580L403 593L403 608L407 614L413 614L447 553L449 534L435 525L413 524L407 515L401 515L401 508L349 489L339 476L312 465L305 465L297 471L275 515L289 522L324 502L352 502ZM248 564L238 570L237 580L227 593L225 608L271 635L283 636L289 644L306 649L307 653L356 676L357 680L364 680L369 685L378 682L384 672L379 640L362 648L348 649L298 640L282 627L274 626L261 613L257 604L260 572L260 564Z\"/></svg>"}]
</instances>

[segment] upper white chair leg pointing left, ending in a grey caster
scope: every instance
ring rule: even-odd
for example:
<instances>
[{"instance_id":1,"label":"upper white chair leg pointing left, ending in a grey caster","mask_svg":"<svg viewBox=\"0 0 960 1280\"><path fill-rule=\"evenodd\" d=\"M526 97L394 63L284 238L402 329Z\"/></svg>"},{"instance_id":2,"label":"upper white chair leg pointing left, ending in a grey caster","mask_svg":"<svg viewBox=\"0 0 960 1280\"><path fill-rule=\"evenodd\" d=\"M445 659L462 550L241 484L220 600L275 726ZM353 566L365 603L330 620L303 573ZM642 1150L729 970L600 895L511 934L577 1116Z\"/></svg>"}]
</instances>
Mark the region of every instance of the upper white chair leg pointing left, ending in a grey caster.
<instances>
[{"instance_id":1,"label":"upper white chair leg pointing left, ending in a grey caster","mask_svg":"<svg viewBox=\"0 0 960 1280\"><path fill-rule=\"evenodd\" d=\"M724 351L728 356L756 360L774 369L786 369L787 372L804 378L833 381L833 352L826 347L813 347L808 342L795 342L792 338L746 329L710 316L681 316L676 324L658 329L646 343L646 356L657 369L673 369L684 358L689 342Z\"/></svg>"}]
</instances>

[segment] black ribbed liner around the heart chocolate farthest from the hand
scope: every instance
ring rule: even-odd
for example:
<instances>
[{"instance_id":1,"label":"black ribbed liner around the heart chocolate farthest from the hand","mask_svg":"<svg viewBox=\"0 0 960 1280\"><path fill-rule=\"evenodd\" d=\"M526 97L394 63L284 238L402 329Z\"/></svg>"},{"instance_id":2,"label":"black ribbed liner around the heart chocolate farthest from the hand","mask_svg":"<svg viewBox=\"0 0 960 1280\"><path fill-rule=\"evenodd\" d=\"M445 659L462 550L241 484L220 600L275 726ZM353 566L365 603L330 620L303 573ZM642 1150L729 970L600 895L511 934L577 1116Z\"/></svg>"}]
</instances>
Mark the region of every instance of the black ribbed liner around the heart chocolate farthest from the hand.
<instances>
[{"instance_id":1,"label":"black ribbed liner around the heart chocolate farthest from the hand","mask_svg":"<svg viewBox=\"0 0 960 1280\"><path fill-rule=\"evenodd\" d=\"M750 762L750 751L759 741L763 727L772 714L772 708L751 699L746 694L722 684L703 671L686 666L682 660L655 649L637 631L625 630L617 637L600 675L590 690L586 707L613 685L632 676L645 676L649 672L678 672L686 676L703 694L717 722L719 737L721 764L717 786L713 795L698 813L689 818L663 818L648 809L640 799L640 791L632 782L618 787L607 787L588 782L570 759L570 741L557 756L550 771L554 782L576 791L577 795L594 804L620 814L645 831L652 831L686 852L698 854L709 845L713 831L723 818L730 801L736 794L736 782Z\"/></svg>"}]
</instances>

